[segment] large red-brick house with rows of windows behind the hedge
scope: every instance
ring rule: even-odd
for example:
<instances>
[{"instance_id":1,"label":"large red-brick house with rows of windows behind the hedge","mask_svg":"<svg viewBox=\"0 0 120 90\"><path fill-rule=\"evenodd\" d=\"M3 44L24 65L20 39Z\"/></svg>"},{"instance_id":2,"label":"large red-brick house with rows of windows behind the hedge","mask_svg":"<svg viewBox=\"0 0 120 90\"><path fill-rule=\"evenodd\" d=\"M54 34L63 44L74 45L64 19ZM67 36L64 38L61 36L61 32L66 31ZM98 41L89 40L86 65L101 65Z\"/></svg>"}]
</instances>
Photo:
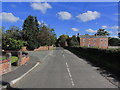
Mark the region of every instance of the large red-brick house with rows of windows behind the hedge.
<instances>
[{"instance_id":1,"label":"large red-brick house with rows of windows behind the hedge","mask_svg":"<svg viewBox=\"0 0 120 90\"><path fill-rule=\"evenodd\" d=\"M108 48L108 38L105 36L79 35L80 46Z\"/></svg>"}]
</instances>

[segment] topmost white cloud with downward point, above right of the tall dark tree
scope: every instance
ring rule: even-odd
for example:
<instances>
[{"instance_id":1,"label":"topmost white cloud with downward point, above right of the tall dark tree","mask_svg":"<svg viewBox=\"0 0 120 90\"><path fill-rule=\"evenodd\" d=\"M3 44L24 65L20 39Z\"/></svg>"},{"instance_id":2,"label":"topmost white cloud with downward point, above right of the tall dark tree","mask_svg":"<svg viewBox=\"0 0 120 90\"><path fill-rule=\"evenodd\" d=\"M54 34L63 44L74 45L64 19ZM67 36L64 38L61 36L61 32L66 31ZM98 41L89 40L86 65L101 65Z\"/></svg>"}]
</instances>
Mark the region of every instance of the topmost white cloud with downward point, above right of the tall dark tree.
<instances>
[{"instance_id":1,"label":"topmost white cloud with downward point, above right of the tall dark tree","mask_svg":"<svg viewBox=\"0 0 120 90\"><path fill-rule=\"evenodd\" d=\"M52 6L49 3L32 3L31 7L34 10L39 10L41 11L43 14L46 13L47 9L52 8Z\"/></svg>"}]
</instances>

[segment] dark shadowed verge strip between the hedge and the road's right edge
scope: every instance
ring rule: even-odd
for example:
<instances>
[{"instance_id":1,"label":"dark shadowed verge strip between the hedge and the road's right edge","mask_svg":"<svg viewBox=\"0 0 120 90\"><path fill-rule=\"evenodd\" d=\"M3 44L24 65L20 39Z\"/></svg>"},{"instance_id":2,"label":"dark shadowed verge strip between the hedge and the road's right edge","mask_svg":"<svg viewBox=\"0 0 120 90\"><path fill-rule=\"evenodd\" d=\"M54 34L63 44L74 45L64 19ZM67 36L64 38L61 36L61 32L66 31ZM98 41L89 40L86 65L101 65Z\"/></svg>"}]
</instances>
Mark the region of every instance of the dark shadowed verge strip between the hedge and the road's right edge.
<instances>
[{"instance_id":1,"label":"dark shadowed verge strip between the hedge and the road's right edge","mask_svg":"<svg viewBox=\"0 0 120 90\"><path fill-rule=\"evenodd\" d=\"M69 48L65 48L64 49L70 51L71 53L73 53L74 55L76 55L79 58L84 59L85 61L87 61L88 64L90 64L91 66L95 67L95 69L102 75L104 76L106 79L108 79L111 83L113 83L114 85L116 85L117 87L120 88L120 77L118 74L114 74L111 71L109 71L108 69L106 69L106 67L102 66L99 63L93 62L92 60L90 60L89 57L85 57L84 55L81 55L80 53L76 52L75 50L69 49Z\"/></svg>"}]
</instances>

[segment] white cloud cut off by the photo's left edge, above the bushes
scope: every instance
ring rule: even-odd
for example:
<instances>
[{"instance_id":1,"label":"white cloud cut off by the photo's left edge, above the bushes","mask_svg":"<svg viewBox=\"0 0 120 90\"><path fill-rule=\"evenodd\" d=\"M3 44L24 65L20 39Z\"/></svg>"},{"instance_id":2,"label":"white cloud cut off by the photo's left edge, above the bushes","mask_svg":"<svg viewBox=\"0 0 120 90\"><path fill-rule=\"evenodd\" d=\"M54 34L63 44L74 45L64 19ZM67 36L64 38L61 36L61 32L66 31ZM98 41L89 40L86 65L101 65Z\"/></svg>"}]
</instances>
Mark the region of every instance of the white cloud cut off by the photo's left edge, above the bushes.
<instances>
[{"instance_id":1,"label":"white cloud cut off by the photo's left edge, above the bushes","mask_svg":"<svg viewBox=\"0 0 120 90\"><path fill-rule=\"evenodd\" d=\"M17 22L20 18L14 16L12 13L2 12L0 13L0 20L7 22Z\"/></svg>"}]
</instances>

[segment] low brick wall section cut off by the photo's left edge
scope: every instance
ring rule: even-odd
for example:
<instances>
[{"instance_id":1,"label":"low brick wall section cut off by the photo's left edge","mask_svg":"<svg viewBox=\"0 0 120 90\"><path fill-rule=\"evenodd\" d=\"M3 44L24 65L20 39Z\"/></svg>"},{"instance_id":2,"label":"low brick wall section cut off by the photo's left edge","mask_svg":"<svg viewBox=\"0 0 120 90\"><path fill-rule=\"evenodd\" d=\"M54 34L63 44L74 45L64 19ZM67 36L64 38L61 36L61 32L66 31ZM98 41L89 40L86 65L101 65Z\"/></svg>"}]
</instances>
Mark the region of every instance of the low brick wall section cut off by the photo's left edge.
<instances>
[{"instance_id":1,"label":"low brick wall section cut off by the photo's left edge","mask_svg":"<svg viewBox=\"0 0 120 90\"><path fill-rule=\"evenodd\" d=\"M0 61L0 75L11 71L11 62L9 59Z\"/></svg>"}]
</instances>

